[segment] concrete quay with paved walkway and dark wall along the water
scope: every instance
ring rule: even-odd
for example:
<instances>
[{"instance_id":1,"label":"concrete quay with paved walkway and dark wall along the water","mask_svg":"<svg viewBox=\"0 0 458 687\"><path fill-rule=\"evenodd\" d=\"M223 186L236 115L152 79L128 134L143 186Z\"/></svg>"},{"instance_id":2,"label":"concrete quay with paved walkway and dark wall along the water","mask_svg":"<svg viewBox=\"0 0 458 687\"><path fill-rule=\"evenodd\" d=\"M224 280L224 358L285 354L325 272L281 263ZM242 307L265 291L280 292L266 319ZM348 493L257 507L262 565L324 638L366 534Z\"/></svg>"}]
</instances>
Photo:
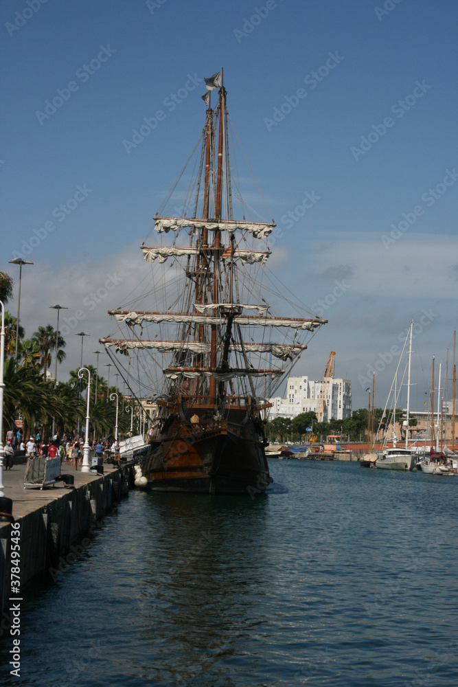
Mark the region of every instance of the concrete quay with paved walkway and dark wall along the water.
<instances>
[{"instance_id":1,"label":"concrete quay with paved walkway and dark wall along the water","mask_svg":"<svg viewBox=\"0 0 458 687\"><path fill-rule=\"evenodd\" d=\"M97 475L74 471L73 466L62 464L61 473L74 476L74 488L65 488L58 482L43 490L24 488L25 464L3 470L3 491L12 499L12 515L20 524L20 559L19 566L16 559L12 563L11 536L15 530L8 522L0 523L0 638L10 627L12 565L13 569L20 567L22 591L38 575L53 576L59 565L76 560L82 537L91 534L98 521L128 496L134 482L133 466L134 462L104 464L104 474Z\"/></svg>"}]
</instances>

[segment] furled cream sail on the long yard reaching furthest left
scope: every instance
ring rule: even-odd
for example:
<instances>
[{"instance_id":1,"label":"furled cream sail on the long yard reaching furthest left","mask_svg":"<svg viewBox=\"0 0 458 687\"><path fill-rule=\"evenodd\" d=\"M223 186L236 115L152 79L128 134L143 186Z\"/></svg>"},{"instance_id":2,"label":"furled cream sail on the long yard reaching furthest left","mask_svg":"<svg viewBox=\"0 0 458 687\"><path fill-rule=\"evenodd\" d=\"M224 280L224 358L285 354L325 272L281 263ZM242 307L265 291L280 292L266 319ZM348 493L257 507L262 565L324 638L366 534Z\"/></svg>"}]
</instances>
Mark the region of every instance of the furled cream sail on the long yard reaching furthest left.
<instances>
[{"instance_id":1,"label":"furled cream sail on the long yard reaching furthest left","mask_svg":"<svg viewBox=\"0 0 458 687\"><path fill-rule=\"evenodd\" d=\"M117 352L126 352L130 349L143 348L155 349L161 353L173 353L176 351L186 351L195 354L210 352L210 343L201 341L145 341L141 339L99 339L104 346L115 346ZM306 350L305 343L244 343L243 348L251 353L271 353L280 360L293 360ZM233 341L229 350L243 353L242 344Z\"/></svg>"}]
</instances>

